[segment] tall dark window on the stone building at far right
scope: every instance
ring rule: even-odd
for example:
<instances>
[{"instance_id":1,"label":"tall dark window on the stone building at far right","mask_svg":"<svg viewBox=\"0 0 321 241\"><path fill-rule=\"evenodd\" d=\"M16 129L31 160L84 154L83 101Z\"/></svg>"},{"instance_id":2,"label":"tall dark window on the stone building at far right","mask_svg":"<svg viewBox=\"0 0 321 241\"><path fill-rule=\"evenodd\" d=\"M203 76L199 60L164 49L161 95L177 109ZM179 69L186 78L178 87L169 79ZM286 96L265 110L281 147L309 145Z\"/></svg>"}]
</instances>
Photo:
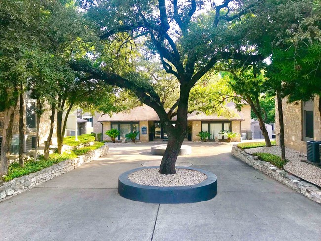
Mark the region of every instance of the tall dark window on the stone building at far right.
<instances>
[{"instance_id":1,"label":"tall dark window on the stone building at far right","mask_svg":"<svg viewBox=\"0 0 321 241\"><path fill-rule=\"evenodd\" d=\"M302 103L303 140L313 140L313 101Z\"/></svg>"}]
</instances>

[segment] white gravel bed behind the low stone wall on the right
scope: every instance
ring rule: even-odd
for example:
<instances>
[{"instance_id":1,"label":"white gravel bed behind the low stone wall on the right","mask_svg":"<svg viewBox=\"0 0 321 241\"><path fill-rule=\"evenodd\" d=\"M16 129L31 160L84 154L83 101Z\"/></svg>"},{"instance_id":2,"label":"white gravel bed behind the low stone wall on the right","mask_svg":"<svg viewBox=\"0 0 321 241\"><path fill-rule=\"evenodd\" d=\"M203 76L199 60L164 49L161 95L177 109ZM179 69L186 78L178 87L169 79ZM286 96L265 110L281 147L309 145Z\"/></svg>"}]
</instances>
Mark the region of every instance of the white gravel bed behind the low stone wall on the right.
<instances>
[{"instance_id":1,"label":"white gravel bed behind the low stone wall on the right","mask_svg":"<svg viewBox=\"0 0 321 241\"><path fill-rule=\"evenodd\" d=\"M245 152L249 154L265 152L280 156L280 146L250 148L245 149ZM305 153L286 147L285 157L289 162L284 165L284 170L295 176L301 177L306 181L321 186L321 168L301 161L307 160Z\"/></svg>"}]
</instances>

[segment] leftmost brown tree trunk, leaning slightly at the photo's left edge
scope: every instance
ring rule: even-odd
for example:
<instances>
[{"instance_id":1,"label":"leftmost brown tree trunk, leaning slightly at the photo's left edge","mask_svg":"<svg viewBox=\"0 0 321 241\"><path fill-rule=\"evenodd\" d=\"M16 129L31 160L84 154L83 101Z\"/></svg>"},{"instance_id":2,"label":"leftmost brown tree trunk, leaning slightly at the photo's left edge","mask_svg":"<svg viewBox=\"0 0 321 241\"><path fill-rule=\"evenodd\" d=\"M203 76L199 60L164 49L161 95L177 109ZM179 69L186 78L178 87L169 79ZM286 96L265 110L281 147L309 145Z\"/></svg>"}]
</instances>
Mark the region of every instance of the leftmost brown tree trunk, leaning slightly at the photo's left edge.
<instances>
[{"instance_id":1,"label":"leftmost brown tree trunk, leaning slightly at the photo's left edge","mask_svg":"<svg viewBox=\"0 0 321 241\"><path fill-rule=\"evenodd\" d=\"M0 176L8 173L11 154L13 118L16 106L17 105L10 106L4 110Z\"/></svg>"}]
</instances>

